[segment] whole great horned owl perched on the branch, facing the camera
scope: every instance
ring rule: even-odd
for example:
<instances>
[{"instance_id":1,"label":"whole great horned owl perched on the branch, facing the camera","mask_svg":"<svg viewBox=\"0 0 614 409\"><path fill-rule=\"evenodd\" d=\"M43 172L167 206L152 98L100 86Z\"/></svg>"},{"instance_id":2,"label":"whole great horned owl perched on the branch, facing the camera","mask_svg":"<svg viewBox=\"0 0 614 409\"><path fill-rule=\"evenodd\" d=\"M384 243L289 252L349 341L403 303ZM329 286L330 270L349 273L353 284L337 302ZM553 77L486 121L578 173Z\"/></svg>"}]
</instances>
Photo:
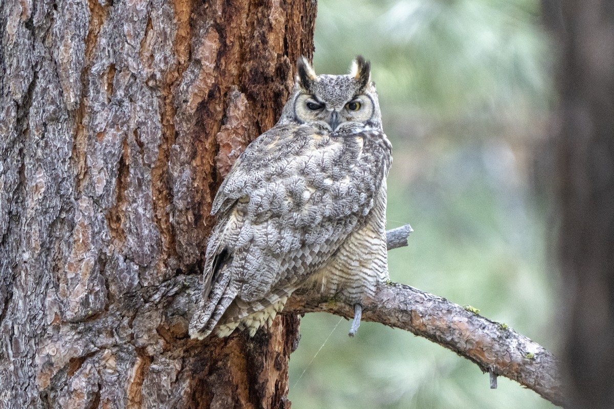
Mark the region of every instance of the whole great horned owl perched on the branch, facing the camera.
<instances>
[{"instance_id":1,"label":"whole great horned owl perched on the branch, facing the camera","mask_svg":"<svg viewBox=\"0 0 614 409\"><path fill-rule=\"evenodd\" d=\"M391 144L382 131L370 63L349 75L316 75L298 59L279 122L236 161L214 199L203 297L190 335L239 329L254 335L300 288L354 305L388 278L386 176Z\"/></svg>"}]
</instances>

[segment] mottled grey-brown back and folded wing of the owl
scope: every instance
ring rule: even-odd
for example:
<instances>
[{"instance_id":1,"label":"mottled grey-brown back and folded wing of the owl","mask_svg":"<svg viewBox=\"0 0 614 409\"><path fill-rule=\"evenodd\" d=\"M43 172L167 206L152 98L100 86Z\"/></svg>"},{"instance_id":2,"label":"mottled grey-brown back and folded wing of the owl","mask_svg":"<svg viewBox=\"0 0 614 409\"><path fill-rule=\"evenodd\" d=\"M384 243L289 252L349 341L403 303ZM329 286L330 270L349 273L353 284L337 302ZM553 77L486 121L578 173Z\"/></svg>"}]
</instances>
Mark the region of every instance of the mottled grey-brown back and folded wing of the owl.
<instances>
[{"instance_id":1,"label":"mottled grey-brown back and folded wing of the owl","mask_svg":"<svg viewBox=\"0 0 614 409\"><path fill-rule=\"evenodd\" d=\"M254 140L216 195L203 305L191 332L206 336L289 296L374 205L390 166L381 131L331 136L276 126Z\"/></svg>"}]
</instances>

